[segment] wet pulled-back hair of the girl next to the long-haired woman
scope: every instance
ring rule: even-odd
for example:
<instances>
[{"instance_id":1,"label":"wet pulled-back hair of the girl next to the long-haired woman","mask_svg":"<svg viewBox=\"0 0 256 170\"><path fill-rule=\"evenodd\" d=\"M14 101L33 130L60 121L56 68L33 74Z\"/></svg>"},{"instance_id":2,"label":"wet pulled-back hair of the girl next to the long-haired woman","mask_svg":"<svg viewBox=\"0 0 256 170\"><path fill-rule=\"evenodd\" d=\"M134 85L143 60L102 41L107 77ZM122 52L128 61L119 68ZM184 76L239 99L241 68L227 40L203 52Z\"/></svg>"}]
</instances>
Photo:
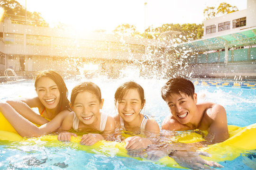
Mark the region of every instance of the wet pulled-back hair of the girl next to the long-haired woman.
<instances>
[{"instance_id":1,"label":"wet pulled-back hair of the girl next to the long-haired woman","mask_svg":"<svg viewBox=\"0 0 256 170\"><path fill-rule=\"evenodd\" d=\"M92 83L92 82L83 82L83 83L80 83L79 85L76 85L73 88L72 93L71 93L71 98L70 98L71 106L74 105L74 101L75 101L75 98L76 98L77 94L81 93L81 92L84 92L84 91L95 94L98 97L99 102L101 102L101 89L100 89L100 87L98 85Z\"/></svg>"}]
</instances>

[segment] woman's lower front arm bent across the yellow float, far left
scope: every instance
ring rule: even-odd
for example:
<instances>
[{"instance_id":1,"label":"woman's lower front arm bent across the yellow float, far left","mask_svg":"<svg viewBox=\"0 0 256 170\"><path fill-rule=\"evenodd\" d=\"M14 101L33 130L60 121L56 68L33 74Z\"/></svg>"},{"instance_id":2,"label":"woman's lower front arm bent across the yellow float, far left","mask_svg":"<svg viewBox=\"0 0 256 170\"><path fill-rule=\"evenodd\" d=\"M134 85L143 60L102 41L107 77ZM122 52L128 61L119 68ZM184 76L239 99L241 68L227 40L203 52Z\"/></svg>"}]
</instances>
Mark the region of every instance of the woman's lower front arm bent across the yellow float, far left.
<instances>
[{"instance_id":1,"label":"woman's lower front arm bent across the yellow float, far left","mask_svg":"<svg viewBox=\"0 0 256 170\"><path fill-rule=\"evenodd\" d=\"M16 110L14 110L8 103L0 103L0 111L3 116L9 121L9 123L14 127L18 134L22 137L31 136L38 137L46 135L50 132L55 131L59 128L68 114L68 110L60 112L52 121L37 127L24 117L22 117Z\"/></svg>"}]
</instances>

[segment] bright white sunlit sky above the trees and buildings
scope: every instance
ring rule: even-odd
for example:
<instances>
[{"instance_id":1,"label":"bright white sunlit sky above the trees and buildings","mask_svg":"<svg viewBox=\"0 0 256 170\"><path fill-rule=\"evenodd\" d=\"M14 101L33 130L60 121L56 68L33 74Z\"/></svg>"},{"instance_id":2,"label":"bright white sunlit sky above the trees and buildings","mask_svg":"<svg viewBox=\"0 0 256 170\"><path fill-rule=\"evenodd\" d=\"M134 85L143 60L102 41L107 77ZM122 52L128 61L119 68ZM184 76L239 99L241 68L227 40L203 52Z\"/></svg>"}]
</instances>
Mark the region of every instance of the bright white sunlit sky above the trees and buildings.
<instances>
[{"instance_id":1,"label":"bright white sunlit sky above the trees and buildings","mask_svg":"<svg viewBox=\"0 0 256 170\"><path fill-rule=\"evenodd\" d=\"M30 12L39 12L50 26L58 22L77 29L113 31L130 24L143 32L148 26L201 24L203 10L221 2L247 8L247 0L17 0ZM146 2L146 5L145 5Z\"/></svg>"}]
</instances>

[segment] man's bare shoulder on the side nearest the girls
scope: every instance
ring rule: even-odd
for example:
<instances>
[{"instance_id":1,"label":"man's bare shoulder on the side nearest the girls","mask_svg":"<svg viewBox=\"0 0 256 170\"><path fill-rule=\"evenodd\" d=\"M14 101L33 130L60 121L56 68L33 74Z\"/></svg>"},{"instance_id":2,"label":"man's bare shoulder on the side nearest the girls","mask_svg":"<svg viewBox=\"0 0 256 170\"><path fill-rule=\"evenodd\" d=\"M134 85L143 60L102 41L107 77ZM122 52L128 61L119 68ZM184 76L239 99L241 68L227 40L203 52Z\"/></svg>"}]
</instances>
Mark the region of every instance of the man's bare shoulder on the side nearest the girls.
<instances>
[{"instance_id":1,"label":"man's bare shoulder on the side nearest the girls","mask_svg":"<svg viewBox=\"0 0 256 170\"><path fill-rule=\"evenodd\" d=\"M180 130L181 124L172 115L168 115L161 125L164 130Z\"/></svg>"}]
</instances>

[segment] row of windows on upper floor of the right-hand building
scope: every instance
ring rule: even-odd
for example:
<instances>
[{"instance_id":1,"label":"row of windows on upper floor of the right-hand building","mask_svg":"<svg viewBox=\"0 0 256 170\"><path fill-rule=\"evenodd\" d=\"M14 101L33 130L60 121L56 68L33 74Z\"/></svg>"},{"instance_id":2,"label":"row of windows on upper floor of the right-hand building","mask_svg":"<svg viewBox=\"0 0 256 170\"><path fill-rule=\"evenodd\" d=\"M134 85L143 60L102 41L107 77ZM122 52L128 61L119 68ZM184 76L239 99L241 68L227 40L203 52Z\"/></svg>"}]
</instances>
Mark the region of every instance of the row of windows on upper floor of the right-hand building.
<instances>
[{"instance_id":1,"label":"row of windows on upper floor of the right-hand building","mask_svg":"<svg viewBox=\"0 0 256 170\"><path fill-rule=\"evenodd\" d=\"M246 17L238 18L233 20L233 28L246 26ZM230 29L230 21L219 23L218 24L218 32L229 30ZM206 26L206 34L216 33L216 25Z\"/></svg>"}]
</instances>

